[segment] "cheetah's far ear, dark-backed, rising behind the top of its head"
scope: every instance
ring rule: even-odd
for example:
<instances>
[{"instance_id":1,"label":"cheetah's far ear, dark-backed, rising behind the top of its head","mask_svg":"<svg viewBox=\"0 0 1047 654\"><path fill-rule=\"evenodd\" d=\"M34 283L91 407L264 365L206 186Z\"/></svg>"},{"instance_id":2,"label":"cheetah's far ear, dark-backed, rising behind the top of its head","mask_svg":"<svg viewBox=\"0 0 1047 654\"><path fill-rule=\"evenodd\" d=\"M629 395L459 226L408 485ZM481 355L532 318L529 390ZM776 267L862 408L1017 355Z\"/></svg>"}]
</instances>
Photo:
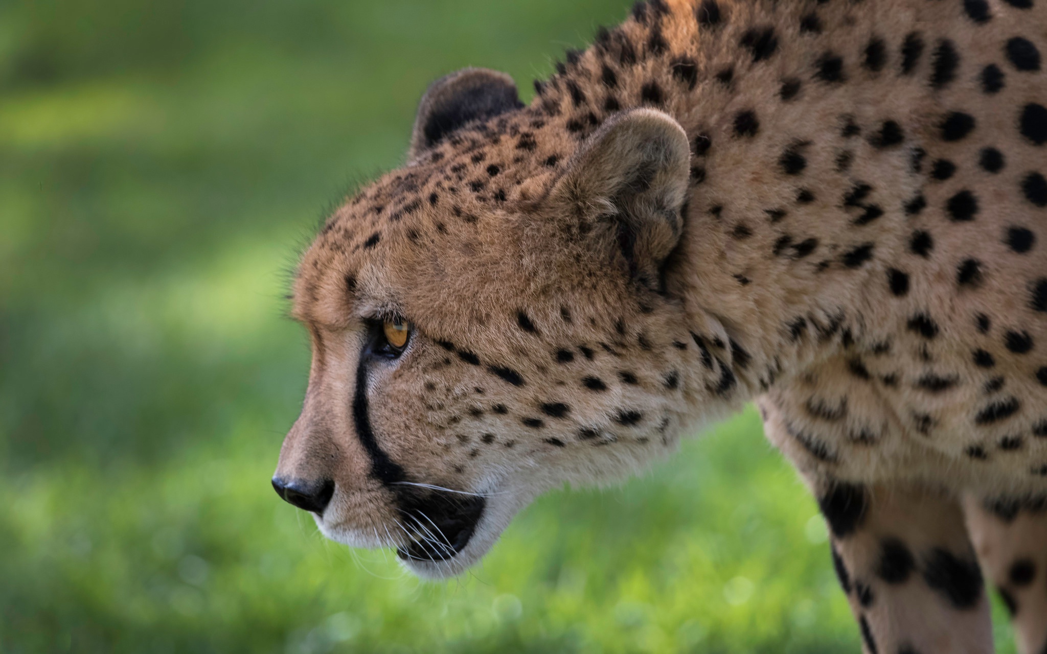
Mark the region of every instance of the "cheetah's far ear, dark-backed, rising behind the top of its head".
<instances>
[{"instance_id":1,"label":"cheetah's far ear, dark-backed, rising behind the top of its head","mask_svg":"<svg viewBox=\"0 0 1047 654\"><path fill-rule=\"evenodd\" d=\"M467 122L521 107L516 84L504 72L464 68L445 75L422 96L407 157L414 159Z\"/></svg>"}]
</instances>

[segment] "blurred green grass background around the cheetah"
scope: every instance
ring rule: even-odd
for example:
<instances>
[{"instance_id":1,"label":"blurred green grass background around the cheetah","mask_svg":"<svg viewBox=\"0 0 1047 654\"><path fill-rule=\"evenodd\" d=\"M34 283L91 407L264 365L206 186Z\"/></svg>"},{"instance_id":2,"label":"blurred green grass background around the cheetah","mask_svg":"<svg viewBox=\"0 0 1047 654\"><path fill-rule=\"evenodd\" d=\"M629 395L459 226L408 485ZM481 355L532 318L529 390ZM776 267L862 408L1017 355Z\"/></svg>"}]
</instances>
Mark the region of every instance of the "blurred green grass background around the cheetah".
<instances>
[{"instance_id":1,"label":"blurred green grass background around the cheetah","mask_svg":"<svg viewBox=\"0 0 1047 654\"><path fill-rule=\"evenodd\" d=\"M447 583L269 487L309 364L282 298L325 207L402 161L431 80L529 97L626 9L0 3L0 651L859 651L752 410L547 496Z\"/></svg>"}]
</instances>

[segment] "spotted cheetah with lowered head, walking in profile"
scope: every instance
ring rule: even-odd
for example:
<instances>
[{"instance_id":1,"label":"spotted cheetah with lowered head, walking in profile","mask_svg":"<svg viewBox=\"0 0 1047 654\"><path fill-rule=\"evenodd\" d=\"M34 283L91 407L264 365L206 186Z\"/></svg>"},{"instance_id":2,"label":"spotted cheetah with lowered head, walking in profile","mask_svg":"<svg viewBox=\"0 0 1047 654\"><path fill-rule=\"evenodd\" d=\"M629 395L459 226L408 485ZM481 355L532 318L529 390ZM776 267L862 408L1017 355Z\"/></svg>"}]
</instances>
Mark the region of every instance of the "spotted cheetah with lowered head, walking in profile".
<instances>
[{"instance_id":1,"label":"spotted cheetah with lowered head, walking in profile","mask_svg":"<svg viewBox=\"0 0 1047 654\"><path fill-rule=\"evenodd\" d=\"M1047 0L650 0L465 69L304 254L273 487L425 578L755 402L864 651L1047 653Z\"/></svg>"}]
</instances>

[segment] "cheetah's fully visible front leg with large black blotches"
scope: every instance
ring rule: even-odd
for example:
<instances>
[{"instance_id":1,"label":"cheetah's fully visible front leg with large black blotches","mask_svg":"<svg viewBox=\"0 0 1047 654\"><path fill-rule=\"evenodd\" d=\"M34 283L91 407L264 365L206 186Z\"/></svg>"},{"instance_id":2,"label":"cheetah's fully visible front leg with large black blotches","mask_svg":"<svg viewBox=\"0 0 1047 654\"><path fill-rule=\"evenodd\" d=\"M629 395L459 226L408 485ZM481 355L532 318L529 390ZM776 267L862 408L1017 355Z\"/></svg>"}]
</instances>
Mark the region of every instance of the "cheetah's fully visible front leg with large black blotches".
<instances>
[{"instance_id":1,"label":"cheetah's fully visible front leg with large black blotches","mask_svg":"<svg viewBox=\"0 0 1047 654\"><path fill-rule=\"evenodd\" d=\"M866 654L982 654L993 627L953 498L912 484L814 480Z\"/></svg>"}]
</instances>

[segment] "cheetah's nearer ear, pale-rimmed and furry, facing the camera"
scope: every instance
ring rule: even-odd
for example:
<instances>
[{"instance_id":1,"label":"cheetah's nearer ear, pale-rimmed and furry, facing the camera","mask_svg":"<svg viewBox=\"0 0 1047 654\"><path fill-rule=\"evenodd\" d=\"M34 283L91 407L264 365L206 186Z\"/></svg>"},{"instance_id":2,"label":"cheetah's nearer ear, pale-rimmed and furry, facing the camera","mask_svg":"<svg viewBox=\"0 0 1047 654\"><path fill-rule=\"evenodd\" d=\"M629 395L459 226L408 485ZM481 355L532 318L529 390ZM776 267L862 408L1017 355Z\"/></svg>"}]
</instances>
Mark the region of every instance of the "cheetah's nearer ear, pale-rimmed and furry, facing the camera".
<instances>
[{"instance_id":1,"label":"cheetah's nearer ear, pale-rimmed and furry, facing the camera","mask_svg":"<svg viewBox=\"0 0 1047 654\"><path fill-rule=\"evenodd\" d=\"M669 115L624 112L582 144L548 201L574 216L599 250L620 252L638 281L656 286L683 230L690 159L687 133Z\"/></svg>"}]
</instances>

